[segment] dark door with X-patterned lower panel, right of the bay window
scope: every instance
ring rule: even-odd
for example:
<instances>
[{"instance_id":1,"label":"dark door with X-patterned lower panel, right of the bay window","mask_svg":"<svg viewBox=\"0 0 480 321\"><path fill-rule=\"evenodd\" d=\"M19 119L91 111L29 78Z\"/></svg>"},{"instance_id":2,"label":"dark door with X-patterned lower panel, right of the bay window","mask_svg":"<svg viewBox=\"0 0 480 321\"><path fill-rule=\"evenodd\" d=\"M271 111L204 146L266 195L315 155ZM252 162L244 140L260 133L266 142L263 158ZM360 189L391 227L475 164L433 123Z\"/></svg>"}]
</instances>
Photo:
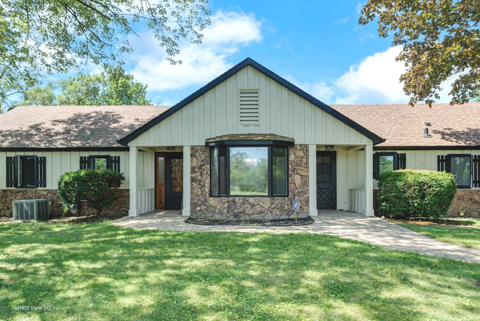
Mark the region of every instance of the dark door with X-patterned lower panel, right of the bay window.
<instances>
[{"instance_id":1,"label":"dark door with X-patterned lower panel, right of the bay window","mask_svg":"<svg viewBox=\"0 0 480 321\"><path fill-rule=\"evenodd\" d=\"M317 151L317 210L336 209L336 151Z\"/></svg>"}]
</instances>

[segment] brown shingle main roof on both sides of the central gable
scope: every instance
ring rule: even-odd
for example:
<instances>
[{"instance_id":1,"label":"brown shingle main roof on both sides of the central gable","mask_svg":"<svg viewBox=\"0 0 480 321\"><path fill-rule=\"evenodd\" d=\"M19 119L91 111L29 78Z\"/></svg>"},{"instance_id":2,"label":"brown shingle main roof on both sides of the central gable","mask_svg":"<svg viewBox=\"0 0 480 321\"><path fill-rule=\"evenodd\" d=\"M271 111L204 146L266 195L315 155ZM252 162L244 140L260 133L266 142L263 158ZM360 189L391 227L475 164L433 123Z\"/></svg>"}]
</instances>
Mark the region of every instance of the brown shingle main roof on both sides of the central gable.
<instances>
[{"instance_id":1,"label":"brown shingle main roof on both sides of the central gable","mask_svg":"<svg viewBox=\"0 0 480 321\"><path fill-rule=\"evenodd\" d=\"M385 138L380 147L480 146L480 103L330 105ZM21 106L0 114L0 148L120 147L166 106ZM430 138L423 137L431 122Z\"/></svg>"}]
</instances>

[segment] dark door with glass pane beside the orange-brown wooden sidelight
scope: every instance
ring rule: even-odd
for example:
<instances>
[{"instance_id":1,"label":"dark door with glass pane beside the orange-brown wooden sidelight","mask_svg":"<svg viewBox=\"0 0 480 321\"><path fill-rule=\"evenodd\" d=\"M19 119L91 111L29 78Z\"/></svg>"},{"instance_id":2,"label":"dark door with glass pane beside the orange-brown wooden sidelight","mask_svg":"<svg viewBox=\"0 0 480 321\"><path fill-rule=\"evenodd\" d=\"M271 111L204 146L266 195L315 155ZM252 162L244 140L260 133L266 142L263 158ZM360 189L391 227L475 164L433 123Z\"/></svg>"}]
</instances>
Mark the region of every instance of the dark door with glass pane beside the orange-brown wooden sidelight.
<instances>
[{"instance_id":1,"label":"dark door with glass pane beside the orange-brown wooden sidelight","mask_svg":"<svg viewBox=\"0 0 480 321\"><path fill-rule=\"evenodd\" d=\"M180 210L183 197L183 153L165 153L165 210Z\"/></svg>"}]
</instances>

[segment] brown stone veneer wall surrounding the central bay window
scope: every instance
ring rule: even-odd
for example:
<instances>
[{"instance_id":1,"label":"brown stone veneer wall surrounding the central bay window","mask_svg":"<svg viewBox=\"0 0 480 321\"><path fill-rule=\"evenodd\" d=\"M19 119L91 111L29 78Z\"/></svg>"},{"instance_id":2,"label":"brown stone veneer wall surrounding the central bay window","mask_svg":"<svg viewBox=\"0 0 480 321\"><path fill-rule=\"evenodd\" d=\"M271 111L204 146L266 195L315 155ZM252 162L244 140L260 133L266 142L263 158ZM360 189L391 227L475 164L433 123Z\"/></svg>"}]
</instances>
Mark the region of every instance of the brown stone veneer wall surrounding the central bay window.
<instances>
[{"instance_id":1,"label":"brown stone veneer wall surrounding the central bay window","mask_svg":"<svg viewBox=\"0 0 480 321\"><path fill-rule=\"evenodd\" d=\"M298 217L309 216L308 145L288 148L288 197L210 197L209 148L191 146L192 218L250 221L278 220L295 217L294 199L299 200Z\"/></svg>"}]
</instances>

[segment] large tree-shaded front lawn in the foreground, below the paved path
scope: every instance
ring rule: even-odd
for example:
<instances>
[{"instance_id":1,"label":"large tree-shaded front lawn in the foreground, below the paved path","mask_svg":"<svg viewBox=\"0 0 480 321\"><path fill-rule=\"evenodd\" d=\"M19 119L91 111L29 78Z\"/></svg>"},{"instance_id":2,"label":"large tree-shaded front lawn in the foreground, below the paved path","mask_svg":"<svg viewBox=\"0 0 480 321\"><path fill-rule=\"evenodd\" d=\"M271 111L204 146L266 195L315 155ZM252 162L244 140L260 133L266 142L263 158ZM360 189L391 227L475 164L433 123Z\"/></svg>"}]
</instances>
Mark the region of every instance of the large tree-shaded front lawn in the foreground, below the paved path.
<instances>
[{"instance_id":1,"label":"large tree-shaded front lawn in the foreground, below the paved path","mask_svg":"<svg viewBox=\"0 0 480 321\"><path fill-rule=\"evenodd\" d=\"M480 264L327 235L9 223L0 225L0 244L0 320L396 321L480 315ZM50 310L12 311L12 305Z\"/></svg>"}]
</instances>

